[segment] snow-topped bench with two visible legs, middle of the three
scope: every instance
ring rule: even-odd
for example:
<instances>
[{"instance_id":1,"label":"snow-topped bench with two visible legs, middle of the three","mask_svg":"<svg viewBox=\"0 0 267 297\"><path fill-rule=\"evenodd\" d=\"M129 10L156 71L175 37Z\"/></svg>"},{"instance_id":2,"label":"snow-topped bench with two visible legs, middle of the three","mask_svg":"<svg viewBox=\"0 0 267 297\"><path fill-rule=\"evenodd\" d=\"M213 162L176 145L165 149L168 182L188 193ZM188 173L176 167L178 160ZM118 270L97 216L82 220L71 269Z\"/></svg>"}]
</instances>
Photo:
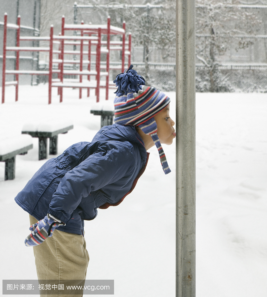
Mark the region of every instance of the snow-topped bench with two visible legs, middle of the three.
<instances>
[{"instance_id":1,"label":"snow-topped bench with two visible legs, middle of the three","mask_svg":"<svg viewBox=\"0 0 267 297\"><path fill-rule=\"evenodd\" d=\"M49 141L49 154L57 154L57 135L65 134L73 129L71 123L54 122L51 124L37 123L25 124L22 128L22 134L29 134L32 137L39 138L39 160L47 158L47 138Z\"/></svg>"}]
</instances>

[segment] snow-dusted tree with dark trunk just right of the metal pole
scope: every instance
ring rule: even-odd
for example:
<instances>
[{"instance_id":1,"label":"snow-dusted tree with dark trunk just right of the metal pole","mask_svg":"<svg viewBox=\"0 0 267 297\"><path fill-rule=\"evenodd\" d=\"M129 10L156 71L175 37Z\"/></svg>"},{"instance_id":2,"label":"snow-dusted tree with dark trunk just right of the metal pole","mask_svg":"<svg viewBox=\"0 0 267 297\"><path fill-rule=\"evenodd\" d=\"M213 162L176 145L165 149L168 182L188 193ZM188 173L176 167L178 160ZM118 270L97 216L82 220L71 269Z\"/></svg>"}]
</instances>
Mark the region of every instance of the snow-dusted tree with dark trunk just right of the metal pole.
<instances>
[{"instance_id":1,"label":"snow-dusted tree with dark trunk just right of the metal pole","mask_svg":"<svg viewBox=\"0 0 267 297\"><path fill-rule=\"evenodd\" d=\"M245 49L251 40L241 37L256 34L261 20L254 12L237 6L229 7L216 0L197 0L196 3L196 57L204 64L208 77L203 77L203 83L209 84L208 91L227 91L229 85L219 71L218 57L227 49L233 48L233 41L238 40L236 50Z\"/></svg>"}]
</instances>

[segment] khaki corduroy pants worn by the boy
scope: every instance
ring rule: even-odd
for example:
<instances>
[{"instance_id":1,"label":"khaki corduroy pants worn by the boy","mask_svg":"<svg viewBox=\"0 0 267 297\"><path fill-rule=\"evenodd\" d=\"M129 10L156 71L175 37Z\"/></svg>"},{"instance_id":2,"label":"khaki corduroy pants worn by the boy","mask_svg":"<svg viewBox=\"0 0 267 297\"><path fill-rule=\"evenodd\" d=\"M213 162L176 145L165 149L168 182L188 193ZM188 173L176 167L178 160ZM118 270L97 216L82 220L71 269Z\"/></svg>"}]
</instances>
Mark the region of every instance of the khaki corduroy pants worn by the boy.
<instances>
[{"instance_id":1,"label":"khaki corduroy pants worn by the boy","mask_svg":"<svg viewBox=\"0 0 267 297\"><path fill-rule=\"evenodd\" d=\"M37 219L30 215L30 224L35 223ZM33 247L33 253L38 279L83 280L86 278L89 255L82 235L55 229L53 236ZM51 297L52 295L40 296ZM65 295L53 296L63 297ZM70 295L67 296L70 297Z\"/></svg>"}]
</instances>

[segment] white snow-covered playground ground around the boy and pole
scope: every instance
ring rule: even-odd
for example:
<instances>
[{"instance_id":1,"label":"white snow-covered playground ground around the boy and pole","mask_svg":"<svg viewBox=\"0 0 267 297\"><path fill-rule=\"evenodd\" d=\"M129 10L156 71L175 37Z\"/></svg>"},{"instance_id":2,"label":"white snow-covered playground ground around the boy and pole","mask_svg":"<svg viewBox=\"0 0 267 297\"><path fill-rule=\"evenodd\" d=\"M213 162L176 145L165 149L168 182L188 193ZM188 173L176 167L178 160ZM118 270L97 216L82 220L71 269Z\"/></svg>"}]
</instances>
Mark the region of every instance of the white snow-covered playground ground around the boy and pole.
<instances>
[{"instance_id":1,"label":"white snow-covered playground ground around the boy and pole","mask_svg":"<svg viewBox=\"0 0 267 297\"><path fill-rule=\"evenodd\" d=\"M167 94L175 119L175 93ZM25 123L70 120L74 129L59 135L59 154L90 141L100 127L100 116L90 114L95 97L85 91L79 100L78 90L64 89L59 104L53 89L48 105L47 85L20 86L14 101L11 86L0 106L0 134L15 137ZM197 296L265 297L267 94L198 93L196 114ZM29 215L14 201L46 161L38 161L37 138L33 145L16 157L14 180L4 181L0 162L2 279L37 279L32 248L24 246ZM172 169L166 176L156 148L149 151L147 169L127 199L85 222L87 279L114 279L116 297L175 296L175 143L164 146Z\"/></svg>"}]
</instances>

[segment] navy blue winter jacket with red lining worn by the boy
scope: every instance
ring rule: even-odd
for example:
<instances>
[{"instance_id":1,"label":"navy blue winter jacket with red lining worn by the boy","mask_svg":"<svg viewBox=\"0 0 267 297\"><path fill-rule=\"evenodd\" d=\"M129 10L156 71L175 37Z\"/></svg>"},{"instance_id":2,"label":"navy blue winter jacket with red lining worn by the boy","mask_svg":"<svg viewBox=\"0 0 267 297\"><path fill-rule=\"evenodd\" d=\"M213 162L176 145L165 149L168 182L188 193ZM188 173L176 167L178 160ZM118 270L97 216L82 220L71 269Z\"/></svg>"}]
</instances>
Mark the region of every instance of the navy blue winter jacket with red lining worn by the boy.
<instances>
[{"instance_id":1,"label":"navy blue winter jacket with red lining worn by the boy","mask_svg":"<svg viewBox=\"0 0 267 297\"><path fill-rule=\"evenodd\" d=\"M119 204L146 161L144 142L134 126L105 126L92 142L75 143L49 159L15 201L38 220L49 213L65 222L58 230L84 234L84 220L94 219L99 207Z\"/></svg>"}]
</instances>

